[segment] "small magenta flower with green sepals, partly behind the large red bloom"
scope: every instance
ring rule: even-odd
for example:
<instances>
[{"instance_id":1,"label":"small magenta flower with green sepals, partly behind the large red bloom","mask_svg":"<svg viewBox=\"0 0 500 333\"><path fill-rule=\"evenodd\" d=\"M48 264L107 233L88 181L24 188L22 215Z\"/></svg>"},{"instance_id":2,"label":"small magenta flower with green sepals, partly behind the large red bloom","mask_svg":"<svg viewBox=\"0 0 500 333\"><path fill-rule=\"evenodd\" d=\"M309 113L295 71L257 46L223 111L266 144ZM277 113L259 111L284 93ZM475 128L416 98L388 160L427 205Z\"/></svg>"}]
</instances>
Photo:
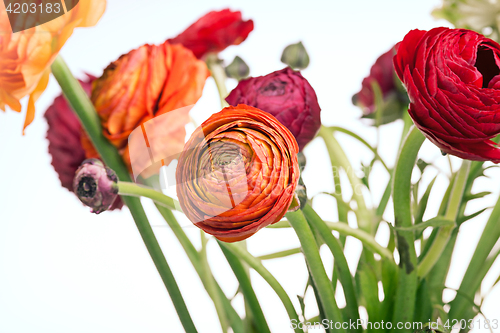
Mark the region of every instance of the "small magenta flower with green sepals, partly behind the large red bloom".
<instances>
[{"instance_id":1,"label":"small magenta flower with green sepals, partly behind the large red bloom","mask_svg":"<svg viewBox=\"0 0 500 333\"><path fill-rule=\"evenodd\" d=\"M370 69L370 75L363 79L361 90L352 97L353 103L362 109L363 117L375 118L374 113L377 110L373 84L378 84L384 102L382 110L379 110L382 112L382 124L401 118L404 108L408 105L408 96L401 87L392 64L398 46L396 44L378 57Z\"/></svg>"}]
</instances>

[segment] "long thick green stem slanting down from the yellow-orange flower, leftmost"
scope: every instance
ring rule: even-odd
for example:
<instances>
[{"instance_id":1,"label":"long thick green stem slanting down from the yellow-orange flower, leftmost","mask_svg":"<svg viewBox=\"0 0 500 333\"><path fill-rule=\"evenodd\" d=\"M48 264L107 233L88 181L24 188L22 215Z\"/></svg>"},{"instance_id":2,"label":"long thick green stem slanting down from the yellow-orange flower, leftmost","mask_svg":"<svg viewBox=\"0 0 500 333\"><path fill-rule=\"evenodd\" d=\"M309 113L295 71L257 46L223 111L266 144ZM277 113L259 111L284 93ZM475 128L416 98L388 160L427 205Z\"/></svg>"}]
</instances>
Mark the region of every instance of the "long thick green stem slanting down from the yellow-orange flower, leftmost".
<instances>
[{"instance_id":1,"label":"long thick green stem slanting down from the yellow-orange flower, leftmost","mask_svg":"<svg viewBox=\"0 0 500 333\"><path fill-rule=\"evenodd\" d=\"M80 118L83 128L104 160L104 163L116 172L120 180L131 181L130 174L123 164L118 151L102 134L101 123L92 102L80 83L71 74L71 71L60 55L52 64L52 74L61 86L64 96ZM130 197L123 197L122 199L134 218L137 229L168 290L184 330L186 332L197 332L177 282L156 240L153 229L151 229L141 201L138 198Z\"/></svg>"}]
</instances>

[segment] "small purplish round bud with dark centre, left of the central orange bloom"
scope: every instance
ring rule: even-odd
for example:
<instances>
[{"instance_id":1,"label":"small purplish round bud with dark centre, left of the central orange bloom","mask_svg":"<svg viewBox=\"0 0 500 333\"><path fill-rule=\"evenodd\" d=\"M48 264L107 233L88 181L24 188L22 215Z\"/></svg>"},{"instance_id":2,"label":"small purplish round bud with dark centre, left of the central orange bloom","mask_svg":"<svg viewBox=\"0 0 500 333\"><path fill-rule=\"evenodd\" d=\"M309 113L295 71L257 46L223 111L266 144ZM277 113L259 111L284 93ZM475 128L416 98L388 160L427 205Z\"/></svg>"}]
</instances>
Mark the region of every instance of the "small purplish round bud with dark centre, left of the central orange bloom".
<instances>
[{"instance_id":1,"label":"small purplish round bud with dark centre, left of the central orange bloom","mask_svg":"<svg viewBox=\"0 0 500 333\"><path fill-rule=\"evenodd\" d=\"M76 170L73 191L81 202L100 214L108 210L118 196L118 177L95 158L83 161Z\"/></svg>"}]
</instances>

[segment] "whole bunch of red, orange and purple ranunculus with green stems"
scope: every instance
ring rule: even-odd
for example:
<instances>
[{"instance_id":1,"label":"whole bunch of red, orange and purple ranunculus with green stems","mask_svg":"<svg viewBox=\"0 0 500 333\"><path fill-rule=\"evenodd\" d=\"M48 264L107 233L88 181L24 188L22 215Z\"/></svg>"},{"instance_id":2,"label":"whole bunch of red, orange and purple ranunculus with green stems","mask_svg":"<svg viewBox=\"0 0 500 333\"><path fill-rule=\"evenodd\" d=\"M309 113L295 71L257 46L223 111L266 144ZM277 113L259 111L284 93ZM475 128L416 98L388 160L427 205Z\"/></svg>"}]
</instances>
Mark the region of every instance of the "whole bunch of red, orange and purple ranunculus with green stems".
<instances>
[{"instance_id":1,"label":"whole bunch of red, orange and purple ranunculus with green stems","mask_svg":"<svg viewBox=\"0 0 500 333\"><path fill-rule=\"evenodd\" d=\"M500 162L496 2L444 0L434 15L455 28L409 31L376 60L352 96L365 126L380 133L389 123L403 125L394 138L399 140L394 165L362 134L322 125L314 87L300 72L314 56L303 43L287 46L281 56L285 67L264 76L250 77L240 57L230 63L221 59L221 51L244 42L254 28L239 11L211 11L176 37L123 54L99 77L77 80L59 52L75 28L98 22L106 0L56 1L50 8L42 1L0 3L0 109L20 112L20 101L29 96L26 128L53 75L62 95L44 117L61 185L92 213L130 211L186 332L199 329L193 322L197 314L184 301L141 198L154 202L210 297L220 322L210 331L271 332L251 271L279 298L288 331L499 328L500 318L481 311L481 284L500 255L500 199L491 211L470 209L471 201L491 194L475 191L476 181ZM209 77L221 107L196 124L190 113ZM231 91L228 80L235 85ZM363 175L353 171L337 141L340 133L372 153ZM302 178L313 167L304 148L315 138L329 157L335 190L322 195L334 203L333 222L313 208L317 196L308 195ZM454 168L450 160L448 173L419 158L425 140L461 166ZM374 189L371 179L379 171L388 181ZM439 175L447 188L436 203L437 214L429 216ZM375 200L374 191L383 194ZM201 247L179 216L200 229ZM487 220L481 239L460 287L448 288L461 226L475 218ZM293 230L300 248L252 255L246 239L264 228L276 229L278 239ZM387 242L376 237L380 233ZM350 238L362 244L354 265L346 251ZM244 315L214 277L209 242L220 248L238 281ZM333 272L327 272L321 249L333 257ZM298 297L287 293L264 264L295 254L303 257L309 277ZM453 292L452 299L443 297L446 291ZM307 293L313 297L306 299ZM307 317L311 306L317 315Z\"/></svg>"}]
</instances>

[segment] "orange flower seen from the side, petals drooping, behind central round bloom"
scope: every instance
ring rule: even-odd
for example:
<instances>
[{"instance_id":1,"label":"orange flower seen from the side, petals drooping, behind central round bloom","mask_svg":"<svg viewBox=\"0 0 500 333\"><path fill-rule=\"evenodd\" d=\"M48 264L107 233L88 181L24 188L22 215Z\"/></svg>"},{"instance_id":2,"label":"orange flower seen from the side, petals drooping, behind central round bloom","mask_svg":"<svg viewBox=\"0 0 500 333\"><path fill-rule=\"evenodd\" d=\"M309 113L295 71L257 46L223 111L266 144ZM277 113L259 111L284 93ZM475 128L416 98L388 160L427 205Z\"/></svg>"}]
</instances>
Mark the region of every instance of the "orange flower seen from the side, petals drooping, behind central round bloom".
<instances>
[{"instance_id":1,"label":"orange flower seen from the side, petals drooping, behind central round bloom","mask_svg":"<svg viewBox=\"0 0 500 333\"><path fill-rule=\"evenodd\" d=\"M122 55L94 81L91 99L101 118L104 135L118 148L130 170L128 137L132 131L148 120L195 104L209 75L206 64L190 50L165 42L143 45ZM168 128L162 132L167 143L167 147L161 147L165 157L182 150L184 126L189 122L187 114L183 116L182 122L173 125L176 131ZM156 131L157 135L162 135L159 132ZM82 143L87 158L98 157L85 134Z\"/></svg>"}]
</instances>

